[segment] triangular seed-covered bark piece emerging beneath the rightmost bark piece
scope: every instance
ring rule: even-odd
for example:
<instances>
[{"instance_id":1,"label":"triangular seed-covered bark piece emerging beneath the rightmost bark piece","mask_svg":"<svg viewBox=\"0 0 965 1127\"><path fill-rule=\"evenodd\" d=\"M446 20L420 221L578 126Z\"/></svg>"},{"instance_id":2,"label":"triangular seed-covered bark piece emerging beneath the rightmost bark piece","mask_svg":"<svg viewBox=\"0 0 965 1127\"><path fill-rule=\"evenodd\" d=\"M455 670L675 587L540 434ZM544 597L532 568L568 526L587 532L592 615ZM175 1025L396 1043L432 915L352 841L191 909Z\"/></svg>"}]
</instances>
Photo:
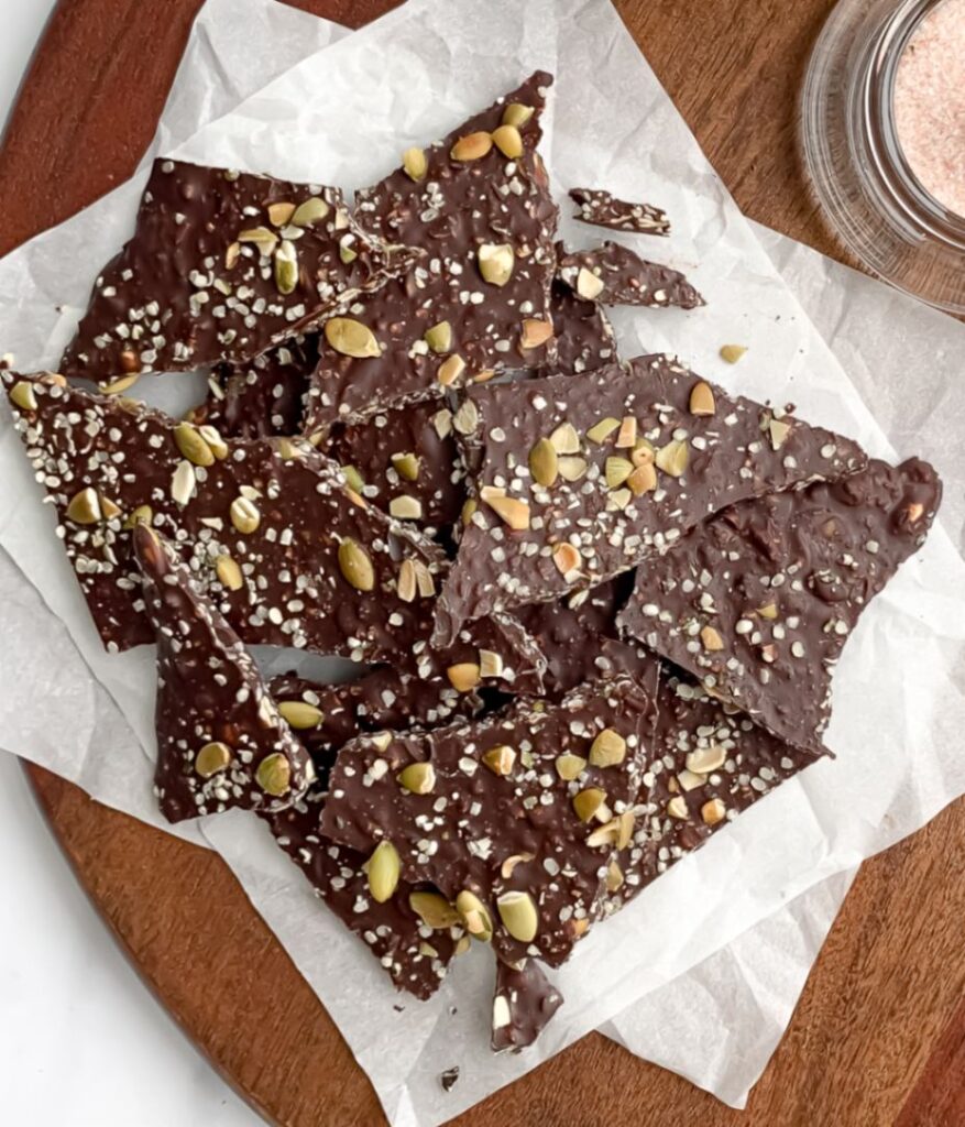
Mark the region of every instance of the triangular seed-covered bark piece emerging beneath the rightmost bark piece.
<instances>
[{"instance_id":1,"label":"triangular seed-covered bark piece emerging beneath the rightmost bark piece","mask_svg":"<svg viewBox=\"0 0 965 1127\"><path fill-rule=\"evenodd\" d=\"M818 758L665 666L653 760L644 773L634 840L608 873L607 912Z\"/></svg>"}]
</instances>

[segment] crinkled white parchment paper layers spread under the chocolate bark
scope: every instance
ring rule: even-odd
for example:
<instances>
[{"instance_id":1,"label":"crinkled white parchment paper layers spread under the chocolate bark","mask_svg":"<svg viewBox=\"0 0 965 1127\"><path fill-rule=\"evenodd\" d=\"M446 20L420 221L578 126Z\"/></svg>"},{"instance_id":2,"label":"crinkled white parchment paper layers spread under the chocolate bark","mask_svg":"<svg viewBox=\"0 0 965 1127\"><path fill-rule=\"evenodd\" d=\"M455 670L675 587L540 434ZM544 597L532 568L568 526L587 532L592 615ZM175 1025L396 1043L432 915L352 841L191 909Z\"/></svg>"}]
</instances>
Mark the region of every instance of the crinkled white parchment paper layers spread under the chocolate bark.
<instances>
[{"instance_id":1,"label":"crinkled white parchment paper layers spread under the chocolate bark","mask_svg":"<svg viewBox=\"0 0 965 1127\"><path fill-rule=\"evenodd\" d=\"M897 296L883 319L875 283L842 282L840 267L759 231L833 328L839 355L853 354L852 383L608 5L410 0L319 50L336 38L331 25L266 0L209 0L157 151L292 178L369 183L405 145L446 131L545 66L558 83L547 156L560 194L599 184L664 205L674 234L649 240L647 251L687 269L710 301L692 313L622 311L625 355L675 350L734 390L794 399L805 417L855 435L873 453L894 456L897 447L930 456L946 477L950 526L960 527L960 447L942 435L941 421L962 385L949 388L932 352L940 341L941 360L950 360L957 340L960 355L962 327L914 309L919 322ZM136 178L0 263L0 348L25 369L56 362L97 268L130 232L142 183ZM594 238L572 223L566 233L579 245ZM80 273L65 276L64 261L82 264ZM912 355L895 365L887 327L902 316L902 346ZM931 316L940 321L919 331ZM879 329L869 341L875 317ZM733 371L717 357L725 341L750 346ZM912 379L927 389L924 407ZM189 378L156 381L151 397L185 396L188 385ZM917 425L910 426L912 405ZM933 435L927 446L922 434ZM158 824L149 786L152 655L108 657L100 649L53 540L52 514L37 504L39 490L7 425L0 462L10 497L0 517L8 553L0 557L8 639L0 668L8 666L10 686L0 703L3 744ZM958 552L936 529L846 650L829 733L839 758L785 784L581 944L557 976L567 1005L538 1048L520 1057L492 1058L486 1047L486 952L460 960L433 1002L400 1000L255 819L229 815L209 820L204 833L338 1021L393 1122L439 1122L611 1020L608 1030L635 1051L740 1102L789 1018L847 870L965 789L956 751L965 713L962 577ZM43 730L36 710L25 708L38 699ZM868 716L876 717L873 733ZM786 906L794 897L800 898ZM719 1009L714 1021L696 1021L690 1000L708 988ZM643 1001L627 1010L630 999ZM721 1018L725 1040L711 1028ZM747 1058L737 1059L744 1050ZM444 1093L439 1073L453 1064L460 1080Z\"/></svg>"}]
</instances>

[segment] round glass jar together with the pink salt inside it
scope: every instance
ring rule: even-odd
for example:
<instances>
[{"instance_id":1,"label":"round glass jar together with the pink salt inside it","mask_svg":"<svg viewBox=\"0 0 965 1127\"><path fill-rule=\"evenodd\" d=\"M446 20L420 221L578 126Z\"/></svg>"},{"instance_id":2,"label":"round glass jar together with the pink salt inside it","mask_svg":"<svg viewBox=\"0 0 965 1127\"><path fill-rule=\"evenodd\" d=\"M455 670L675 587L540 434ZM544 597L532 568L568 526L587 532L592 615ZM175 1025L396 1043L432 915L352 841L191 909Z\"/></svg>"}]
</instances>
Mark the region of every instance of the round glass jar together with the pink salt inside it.
<instances>
[{"instance_id":1,"label":"round glass jar together with the pink salt inside it","mask_svg":"<svg viewBox=\"0 0 965 1127\"><path fill-rule=\"evenodd\" d=\"M965 314L965 0L840 0L808 65L800 136L844 246Z\"/></svg>"}]
</instances>

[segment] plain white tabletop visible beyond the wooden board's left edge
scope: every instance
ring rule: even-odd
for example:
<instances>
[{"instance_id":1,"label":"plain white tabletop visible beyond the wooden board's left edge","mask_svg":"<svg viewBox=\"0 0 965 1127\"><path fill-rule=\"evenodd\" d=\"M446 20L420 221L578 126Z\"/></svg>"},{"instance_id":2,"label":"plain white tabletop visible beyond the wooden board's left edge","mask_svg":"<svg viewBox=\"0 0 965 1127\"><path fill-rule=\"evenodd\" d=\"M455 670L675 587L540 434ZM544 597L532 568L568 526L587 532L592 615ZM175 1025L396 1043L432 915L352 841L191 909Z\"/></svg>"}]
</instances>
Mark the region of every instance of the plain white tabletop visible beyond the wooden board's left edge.
<instances>
[{"instance_id":1,"label":"plain white tabletop visible beyond the wooden board's left edge","mask_svg":"<svg viewBox=\"0 0 965 1127\"><path fill-rule=\"evenodd\" d=\"M0 125L53 7L0 0ZM141 984L3 752L0 858L5 1127L260 1124Z\"/></svg>"}]
</instances>

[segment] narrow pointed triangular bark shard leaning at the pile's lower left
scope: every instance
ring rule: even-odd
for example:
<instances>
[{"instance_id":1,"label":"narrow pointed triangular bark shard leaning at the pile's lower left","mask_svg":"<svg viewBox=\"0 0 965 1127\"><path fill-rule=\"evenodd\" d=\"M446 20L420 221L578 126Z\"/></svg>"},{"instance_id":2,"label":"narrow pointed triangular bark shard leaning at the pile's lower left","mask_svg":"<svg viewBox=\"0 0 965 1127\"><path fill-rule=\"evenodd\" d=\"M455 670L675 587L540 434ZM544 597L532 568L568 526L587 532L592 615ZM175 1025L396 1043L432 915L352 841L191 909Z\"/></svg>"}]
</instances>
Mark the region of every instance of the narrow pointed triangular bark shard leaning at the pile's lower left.
<instances>
[{"instance_id":1,"label":"narrow pointed triangular bark shard leaning at the pile's lower left","mask_svg":"<svg viewBox=\"0 0 965 1127\"><path fill-rule=\"evenodd\" d=\"M238 635L147 525L133 533L158 642L154 792L168 822L231 807L277 811L315 779Z\"/></svg>"}]
</instances>

